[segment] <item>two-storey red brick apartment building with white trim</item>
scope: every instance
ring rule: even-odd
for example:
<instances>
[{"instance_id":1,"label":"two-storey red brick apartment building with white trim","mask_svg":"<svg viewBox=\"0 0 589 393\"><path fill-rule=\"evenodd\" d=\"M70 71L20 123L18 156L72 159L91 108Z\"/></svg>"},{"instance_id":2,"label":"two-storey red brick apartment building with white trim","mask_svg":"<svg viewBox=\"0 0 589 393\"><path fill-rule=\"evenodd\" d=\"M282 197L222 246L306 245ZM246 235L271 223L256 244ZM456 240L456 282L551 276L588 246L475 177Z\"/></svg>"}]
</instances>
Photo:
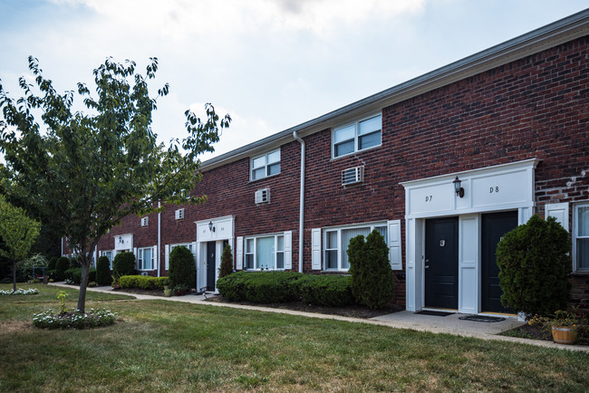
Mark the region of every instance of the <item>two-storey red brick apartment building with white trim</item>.
<instances>
[{"instance_id":1,"label":"two-storey red brick apartment building with white trim","mask_svg":"<svg viewBox=\"0 0 589 393\"><path fill-rule=\"evenodd\" d=\"M377 229L407 310L499 313L495 247L537 213L571 233L588 304L588 92L585 10L206 161L204 205L127 217L95 257L165 275L184 244L212 290L224 244L237 270L345 273Z\"/></svg>"}]
</instances>

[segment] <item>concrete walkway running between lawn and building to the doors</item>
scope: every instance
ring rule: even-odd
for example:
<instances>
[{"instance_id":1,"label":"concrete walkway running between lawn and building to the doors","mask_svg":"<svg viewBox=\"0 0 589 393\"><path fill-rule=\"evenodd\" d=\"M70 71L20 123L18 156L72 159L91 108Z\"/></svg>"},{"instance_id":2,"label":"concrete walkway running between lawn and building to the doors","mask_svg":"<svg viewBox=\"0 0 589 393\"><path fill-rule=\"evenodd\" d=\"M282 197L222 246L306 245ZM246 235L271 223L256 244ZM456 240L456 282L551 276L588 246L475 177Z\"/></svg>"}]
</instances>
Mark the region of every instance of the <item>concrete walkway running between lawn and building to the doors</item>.
<instances>
[{"instance_id":1,"label":"concrete walkway running between lawn and building to the doors","mask_svg":"<svg viewBox=\"0 0 589 393\"><path fill-rule=\"evenodd\" d=\"M77 287L65 283L49 283L49 285L64 288L77 289ZM299 315L308 318L320 318L324 320L348 321L366 323L371 325L388 326L396 329L411 329L414 331L430 331L432 333L454 334L462 337L474 337L482 340L511 341L522 344L536 345L537 347L556 348L561 350L579 350L589 353L589 346L555 344L550 341L528 340L516 337L499 336L498 333L508 331L524 324L515 318L506 318L500 322L476 322L463 321L459 317L464 314L451 314L445 317L417 314L415 312L395 312L365 320L362 318L343 317L331 314L319 314L315 312L298 312L294 310L275 309L270 307L249 306L243 304L207 302L205 295L188 294L185 296L153 296L124 291L113 291L110 286L88 288L91 292L118 293L134 297L137 300L160 300L167 302L186 302L211 307L229 307L240 310L253 310L258 312L276 312L290 315ZM208 295L211 296L211 295Z\"/></svg>"}]
</instances>

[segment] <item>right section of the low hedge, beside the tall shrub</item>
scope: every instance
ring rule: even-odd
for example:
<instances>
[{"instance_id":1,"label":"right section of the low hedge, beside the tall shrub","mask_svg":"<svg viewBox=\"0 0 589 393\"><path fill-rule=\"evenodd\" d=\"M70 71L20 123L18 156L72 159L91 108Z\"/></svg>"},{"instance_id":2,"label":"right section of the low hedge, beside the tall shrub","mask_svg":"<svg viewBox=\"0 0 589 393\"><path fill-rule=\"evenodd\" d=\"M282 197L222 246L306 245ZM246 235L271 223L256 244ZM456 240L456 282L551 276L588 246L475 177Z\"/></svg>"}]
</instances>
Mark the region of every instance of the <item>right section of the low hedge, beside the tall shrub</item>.
<instances>
[{"instance_id":1,"label":"right section of the low hedge, beside the tall shrub","mask_svg":"<svg viewBox=\"0 0 589 393\"><path fill-rule=\"evenodd\" d=\"M349 275L311 275L300 279L303 302L329 307L343 307L354 303L352 277Z\"/></svg>"}]
</instances>

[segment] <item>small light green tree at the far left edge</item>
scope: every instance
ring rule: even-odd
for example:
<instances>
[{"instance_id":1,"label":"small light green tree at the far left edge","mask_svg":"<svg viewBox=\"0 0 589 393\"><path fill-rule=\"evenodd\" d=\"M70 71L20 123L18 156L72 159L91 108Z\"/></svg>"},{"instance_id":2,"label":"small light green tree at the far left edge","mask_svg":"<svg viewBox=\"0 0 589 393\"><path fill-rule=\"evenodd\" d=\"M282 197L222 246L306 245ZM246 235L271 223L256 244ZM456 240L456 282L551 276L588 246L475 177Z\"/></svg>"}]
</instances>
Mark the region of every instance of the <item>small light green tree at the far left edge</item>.
<instances>
[{"instance_id":1,"label":"small light green tree at the far left edge","mask_svg":"<svg viewBox=\"0 0 589 393\"><path fill-rule=\"evenodd\" d=\"M16 291L16 263L23 260L39 235L41 224L29 218L20 207L6 202L0 196L0 237L4 240L4 248L0 255L13 262L13 290Z\"/></svg>"}]
</instances>

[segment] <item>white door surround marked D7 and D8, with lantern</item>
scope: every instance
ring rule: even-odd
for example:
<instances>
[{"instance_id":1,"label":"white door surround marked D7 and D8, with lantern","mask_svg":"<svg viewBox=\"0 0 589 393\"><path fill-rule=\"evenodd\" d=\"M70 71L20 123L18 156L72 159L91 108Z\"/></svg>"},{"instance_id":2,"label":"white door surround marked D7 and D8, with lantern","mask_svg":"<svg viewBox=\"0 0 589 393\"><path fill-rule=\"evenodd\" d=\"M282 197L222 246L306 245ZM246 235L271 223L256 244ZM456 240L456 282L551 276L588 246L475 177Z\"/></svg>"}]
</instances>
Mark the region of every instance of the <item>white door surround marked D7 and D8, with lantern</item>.
<instances>
[{"instance_id":1,"label":"white door surround marked D7 and D8, with lantern","mask_svg":"<svg viewBox=\"0 0 589 393\"><path fill-rule=\"evenodd\" d=\"M425 220L459 217L459 312L480 312L480 215L517 210L518 224L534 213L535 169L539 160L526 159L403 182L405 187L406 309L424 308ZM454 191L459 177L464 197Z\"/></svg>"}]
</instances>

